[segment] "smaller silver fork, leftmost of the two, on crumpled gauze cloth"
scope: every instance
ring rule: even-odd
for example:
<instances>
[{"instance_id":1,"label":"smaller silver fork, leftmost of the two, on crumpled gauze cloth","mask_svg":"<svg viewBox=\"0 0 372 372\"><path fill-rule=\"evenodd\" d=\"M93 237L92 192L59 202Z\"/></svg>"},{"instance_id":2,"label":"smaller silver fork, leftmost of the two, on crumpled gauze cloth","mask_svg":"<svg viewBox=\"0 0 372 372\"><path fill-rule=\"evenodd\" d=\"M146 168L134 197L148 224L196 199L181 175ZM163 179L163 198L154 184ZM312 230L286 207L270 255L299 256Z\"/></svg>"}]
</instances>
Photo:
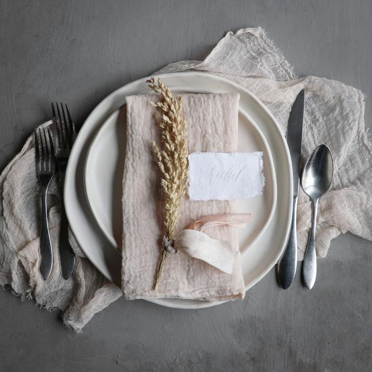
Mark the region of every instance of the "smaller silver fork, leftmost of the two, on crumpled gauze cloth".
<instances>
[{"instance_id":1,"label":"smaller silver fork, leftmost of the two, on crumpled gauze cloth","mask_svg":"<svg viewBox=\"0 0 372 372\"><path fill-rule=\"evenodd\" d=\"M48 133L48 134L47 134ZM51 133L43 127L35 128L35 163L36 173L41 184L41 232L40 232L40 265L39 270L44 281L52 271L53 251L48 226L48 209L46 195L56 170L56 158L53 151Z\"/></svg>"}]
</instances>

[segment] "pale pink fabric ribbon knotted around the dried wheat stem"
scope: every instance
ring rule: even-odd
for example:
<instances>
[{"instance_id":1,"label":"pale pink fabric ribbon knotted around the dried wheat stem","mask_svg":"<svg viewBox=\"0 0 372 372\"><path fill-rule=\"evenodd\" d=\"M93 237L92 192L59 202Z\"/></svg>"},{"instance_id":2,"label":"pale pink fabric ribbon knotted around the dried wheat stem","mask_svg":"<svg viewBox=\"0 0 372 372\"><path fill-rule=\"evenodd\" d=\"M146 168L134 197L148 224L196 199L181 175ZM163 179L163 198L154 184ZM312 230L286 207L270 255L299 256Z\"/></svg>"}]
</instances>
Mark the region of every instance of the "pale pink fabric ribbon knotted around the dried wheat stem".
<instances>
[{"instance_id":1,"label":"pale pink fabric ribbon knotted around the dried wheat stem","mask_svg":"<svg viewBox=\"0 0 372 372\"><path fill-rule=\"evenodd\" d=\"M182 251L190 257L203 260L231 274L240 252L233 249L229 242L212 239L203 231L209 227L221 225L244 228L250 221L252 221L250 213L221 213L204 216L181 230L174 240L164 236L162 245L170 253Z\"/></svg>"}]
</instances>

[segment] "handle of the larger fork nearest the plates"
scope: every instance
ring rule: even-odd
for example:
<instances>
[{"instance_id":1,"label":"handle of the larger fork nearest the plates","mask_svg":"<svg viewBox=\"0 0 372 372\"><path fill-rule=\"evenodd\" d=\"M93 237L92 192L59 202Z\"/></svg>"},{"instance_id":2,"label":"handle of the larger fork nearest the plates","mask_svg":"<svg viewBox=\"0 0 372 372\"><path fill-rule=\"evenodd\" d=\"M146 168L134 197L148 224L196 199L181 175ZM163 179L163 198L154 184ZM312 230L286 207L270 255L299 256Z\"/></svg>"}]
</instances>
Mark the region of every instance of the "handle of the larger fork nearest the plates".
<instances>
[{"instance_id":1,"label":"handle of the larger fork nearest the plates","mask_svg":"<svg viewBox=\"0 0 372 372\"><path fill-rule=\"evenodd\" d=\"M61 272L64 279L68 279L75 266L75 254L68 241L68 219L65 211L63 190L65 184L65 170L60 169L61 182L61 230L59 239L59 254L61 263Z\"/></svg>"}]
</instances>

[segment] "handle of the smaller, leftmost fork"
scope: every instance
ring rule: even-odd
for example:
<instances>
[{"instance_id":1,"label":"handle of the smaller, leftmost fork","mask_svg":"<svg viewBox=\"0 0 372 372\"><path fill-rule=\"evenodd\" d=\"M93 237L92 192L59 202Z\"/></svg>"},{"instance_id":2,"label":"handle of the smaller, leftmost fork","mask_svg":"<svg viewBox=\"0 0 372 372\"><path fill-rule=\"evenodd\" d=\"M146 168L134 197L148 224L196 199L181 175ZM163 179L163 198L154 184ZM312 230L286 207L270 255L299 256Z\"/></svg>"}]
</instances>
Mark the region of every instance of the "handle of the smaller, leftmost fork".
<instances>
[{"instance_id":1,"label":"handle of the smaller, leftmost fork","mask_svg":"<svg viewBox=\"0 0 372 372\"><path fill-rule=\"evenodd\" d=\"M41 232L40 232L40 274L46 281L51 274L53 265L53 251L51 237L49 235L48 209L46 205L46 195L48 185L41 187Z\"/></svg>"}]
</instances>

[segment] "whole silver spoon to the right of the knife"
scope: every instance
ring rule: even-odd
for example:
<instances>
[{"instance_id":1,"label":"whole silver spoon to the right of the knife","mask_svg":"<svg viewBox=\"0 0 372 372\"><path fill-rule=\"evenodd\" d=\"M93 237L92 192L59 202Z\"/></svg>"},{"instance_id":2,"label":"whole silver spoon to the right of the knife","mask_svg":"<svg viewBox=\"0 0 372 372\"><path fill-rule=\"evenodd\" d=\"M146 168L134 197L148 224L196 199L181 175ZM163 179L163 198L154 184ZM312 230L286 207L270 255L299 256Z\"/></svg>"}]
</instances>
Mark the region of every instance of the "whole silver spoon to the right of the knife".
<instances>
[{"instance_id":1,"label":"whole silver spoon to the right of the knife","mask_svg":"<svg viewBox=\"0 0 372 372\"><path fill-rule=\"evenodd\" d=\"M315 229L319 198L331 186L333 159L330 149L318 146L311 154L302 172L302 189L312 202L312 222L304 262L302 263L302 281L308 289L314 286L316 278Z\"/></svg>"}]
</instances>

